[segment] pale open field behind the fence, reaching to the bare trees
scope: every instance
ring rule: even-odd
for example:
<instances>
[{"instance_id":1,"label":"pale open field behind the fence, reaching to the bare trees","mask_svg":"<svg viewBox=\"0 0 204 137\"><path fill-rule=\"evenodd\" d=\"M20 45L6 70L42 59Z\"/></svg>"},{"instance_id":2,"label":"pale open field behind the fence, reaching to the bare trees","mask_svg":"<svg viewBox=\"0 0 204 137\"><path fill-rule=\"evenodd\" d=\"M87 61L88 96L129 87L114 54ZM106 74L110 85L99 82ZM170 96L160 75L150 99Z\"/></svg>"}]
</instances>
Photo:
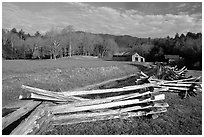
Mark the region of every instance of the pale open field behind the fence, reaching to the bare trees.
<instances>
[{"instance_id":1,"label":"pale open field behind the fence, reaching to the bare trees","mask_svg":"<svg viewBox=\"0 0 204 137\"><path fill-rule=\"evenodd\" d=\"M79 56L57 60L3 60L2 106L19 101L23 84L68 91L136 72L138 68L130 63Z\"/></svg>"}]
</instances>

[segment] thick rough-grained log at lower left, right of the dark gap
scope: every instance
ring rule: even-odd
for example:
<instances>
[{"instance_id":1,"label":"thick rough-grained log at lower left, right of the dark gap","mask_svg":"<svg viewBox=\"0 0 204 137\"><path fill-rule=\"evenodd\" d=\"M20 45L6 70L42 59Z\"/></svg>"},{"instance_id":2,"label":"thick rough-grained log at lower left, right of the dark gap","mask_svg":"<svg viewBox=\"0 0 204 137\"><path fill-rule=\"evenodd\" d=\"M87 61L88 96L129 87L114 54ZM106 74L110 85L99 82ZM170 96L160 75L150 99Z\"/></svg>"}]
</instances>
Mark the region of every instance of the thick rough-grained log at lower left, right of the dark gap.
<instances>
[{"instance_id":1,"label":"thick rough-grained log at lower left, right of the dark gap","mask_svg":"<svg viewBox=\"0 0 204 137\"><path fill-rule=\"evenodd\" d=\"M43 121L47 120L47 117L50 115L45 108L49 104L41 104L38 106L20 125L18 125L12 132L11 135L28 135L35 134L34 131L39 130L42 126ZM39 122L41 120L41 122Z\"/></svg>"}]
</instances>

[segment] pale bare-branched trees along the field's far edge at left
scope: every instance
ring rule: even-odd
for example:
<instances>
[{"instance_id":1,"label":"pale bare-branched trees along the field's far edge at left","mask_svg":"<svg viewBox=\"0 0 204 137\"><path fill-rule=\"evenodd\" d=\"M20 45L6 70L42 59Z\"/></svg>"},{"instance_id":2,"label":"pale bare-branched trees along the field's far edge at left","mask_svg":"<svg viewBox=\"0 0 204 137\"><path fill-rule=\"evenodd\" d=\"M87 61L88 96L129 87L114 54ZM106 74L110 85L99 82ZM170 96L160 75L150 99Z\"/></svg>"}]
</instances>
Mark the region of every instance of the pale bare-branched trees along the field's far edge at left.
<instances>
[{"instance_id":1,"label":"pale bare-branched trees along the field's far edge at left","mask_svg":"<svg viewBox=\"0 0 204 137\"><path fill-rule=\"evenodd\" d=\"M52 28L44 35L2 30L2 56L4 59L56 59L71 55L108 56L117 52L114 39L91 33L74 31L73 26L62 30Z\"/></svg>"}]
</instances>

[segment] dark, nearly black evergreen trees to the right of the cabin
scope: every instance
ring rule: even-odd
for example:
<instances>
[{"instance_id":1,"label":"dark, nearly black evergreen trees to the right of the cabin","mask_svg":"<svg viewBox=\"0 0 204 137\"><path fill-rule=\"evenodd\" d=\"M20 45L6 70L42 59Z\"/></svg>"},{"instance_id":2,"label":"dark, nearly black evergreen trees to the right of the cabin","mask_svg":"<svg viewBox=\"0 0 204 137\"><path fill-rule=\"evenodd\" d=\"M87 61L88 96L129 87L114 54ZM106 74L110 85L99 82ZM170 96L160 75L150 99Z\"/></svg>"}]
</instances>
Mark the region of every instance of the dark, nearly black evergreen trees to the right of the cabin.
<instances>
[{"instance_id":1,"label":"dark, nearly black evergreen trees to the right of the cabin","mask_svg":"<svg viewBox=\"0 0 204 137\"><path fill-rule=\"evenodd\" d=\"M202 70L202 34L188 32L174 38L166 37L152 40L152 48L146 55L147 60L164 61L164 55L179 55L180 63L188 69Z\"/></svg>"}]
</instances>

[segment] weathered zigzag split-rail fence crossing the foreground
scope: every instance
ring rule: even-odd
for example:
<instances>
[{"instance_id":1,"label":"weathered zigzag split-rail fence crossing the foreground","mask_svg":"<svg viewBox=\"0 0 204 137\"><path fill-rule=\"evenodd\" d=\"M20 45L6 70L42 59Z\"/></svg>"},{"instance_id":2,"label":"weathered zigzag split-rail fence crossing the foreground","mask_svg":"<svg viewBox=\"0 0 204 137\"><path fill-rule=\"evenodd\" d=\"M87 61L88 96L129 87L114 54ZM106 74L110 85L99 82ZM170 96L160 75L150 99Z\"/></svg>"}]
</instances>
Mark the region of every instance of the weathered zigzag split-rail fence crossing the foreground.
<instances>
[{"instance_id":1,"label":"weathered zigzag split-rail fence crossing the foreground","mask_svg":"<svg viewBox=\"0 0 204 137\"><path fill-rule=\"evenodd\" d=\"M163 92L184 92L185 97L193 93L195 95L195 90L201 90L199 78L168 81L141 72L136 81L139 85L69 92L53 92L22 85L25 93L19 99L29 102L2 118L2 130L11 135L41 134L49 124L155 117L167 112L169 107ZM6 132L12 126L13 130Z\"/></svg>"}]
</instances>

